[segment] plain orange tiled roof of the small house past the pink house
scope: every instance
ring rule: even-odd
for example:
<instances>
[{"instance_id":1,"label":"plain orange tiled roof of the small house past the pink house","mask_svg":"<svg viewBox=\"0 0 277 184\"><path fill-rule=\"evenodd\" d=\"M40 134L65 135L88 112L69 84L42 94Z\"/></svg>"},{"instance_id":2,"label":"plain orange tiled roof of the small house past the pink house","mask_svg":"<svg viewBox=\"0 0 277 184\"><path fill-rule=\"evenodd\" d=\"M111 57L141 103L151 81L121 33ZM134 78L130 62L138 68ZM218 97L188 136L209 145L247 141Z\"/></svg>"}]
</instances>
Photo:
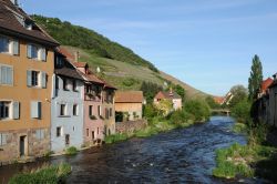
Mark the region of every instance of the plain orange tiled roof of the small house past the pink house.
<instances>
[{"instance_id":1,"label":"plain orange tiled roof of the small house past the pink house","mask_svg":"<svg viewBox=\"0 0 277 184\"><path fill-rule=\"evenodd\" d=\"M115 103L143 103L142 91L117 91L115 92Z\"/></svg>"}]
</instances>

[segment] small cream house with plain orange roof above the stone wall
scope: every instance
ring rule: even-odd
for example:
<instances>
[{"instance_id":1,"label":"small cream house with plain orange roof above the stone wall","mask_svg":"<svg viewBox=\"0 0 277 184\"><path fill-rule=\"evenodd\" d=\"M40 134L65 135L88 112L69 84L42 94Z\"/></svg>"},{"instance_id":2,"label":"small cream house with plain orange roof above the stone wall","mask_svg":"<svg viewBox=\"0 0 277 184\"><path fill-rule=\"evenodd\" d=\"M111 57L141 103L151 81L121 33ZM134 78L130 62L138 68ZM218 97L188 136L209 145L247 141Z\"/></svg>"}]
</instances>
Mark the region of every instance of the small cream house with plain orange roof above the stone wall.
<instances>
[{"instance_id":1,"label":"small cream house with plain orange roof above the stone wall","mask_svg":"<svg viewBox=\"0 0 277 184\"><path fill-rule=\"evenodd\" d=\"M143 102L142 91L116 91L115 113L126 114L127 121L141 120Z\"/></svg>"}]
</instances>

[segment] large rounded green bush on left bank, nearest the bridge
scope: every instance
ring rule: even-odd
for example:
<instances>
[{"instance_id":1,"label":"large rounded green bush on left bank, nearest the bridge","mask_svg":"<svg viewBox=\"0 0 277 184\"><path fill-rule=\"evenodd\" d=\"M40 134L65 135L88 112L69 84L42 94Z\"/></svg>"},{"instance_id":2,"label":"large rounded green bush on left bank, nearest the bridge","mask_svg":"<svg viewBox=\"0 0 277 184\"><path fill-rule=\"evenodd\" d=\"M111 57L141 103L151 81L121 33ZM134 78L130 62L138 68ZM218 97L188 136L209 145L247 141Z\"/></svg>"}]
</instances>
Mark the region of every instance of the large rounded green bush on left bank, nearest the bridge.
<instances>
[{"instance_id":1,"label":"large rounded green bush on left bank, nearest the bridge","mask_svg":"<svg viewBox=\"0 0 277 184\"><path fill-rule=\"evenodd\" d=\"M209 119L211 110L208 104L203 100L191 100L185 103L185 111L194 115L195 121L204 122Z\"/></svg>"}]
</instances>

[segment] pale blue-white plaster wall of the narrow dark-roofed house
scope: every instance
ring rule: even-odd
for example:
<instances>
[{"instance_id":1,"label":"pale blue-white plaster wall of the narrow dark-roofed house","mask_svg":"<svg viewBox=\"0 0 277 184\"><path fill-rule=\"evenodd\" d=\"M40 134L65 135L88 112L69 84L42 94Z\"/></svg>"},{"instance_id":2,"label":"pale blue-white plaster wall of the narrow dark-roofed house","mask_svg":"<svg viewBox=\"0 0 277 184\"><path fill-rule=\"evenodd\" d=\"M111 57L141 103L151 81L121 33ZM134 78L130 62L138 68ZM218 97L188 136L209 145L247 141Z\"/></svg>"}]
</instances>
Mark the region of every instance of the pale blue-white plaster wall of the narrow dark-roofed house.
<instances>
[{"instance_id":1,"label":"pale blue-white plaster wall of the narrow dark-roofed house","mask_svg":"<svg viewBox=\"0 0 277 184\"><path fill-rule=\"evenodd\" d=\"M53 76L54 78L54 76ZM51 151L61 152L66 149L65 135L70 135L69 146L81 147L83 144L83 82L76 81L78 92L72 91L70 79L69 91L63 90L63 81L59 78L59 90L51 101ZM60 116L60 104L65 104L64 116ZM78 115L73 115L73 104L78 105ZM61 126L61 136L57 137L57 127Z\"/></svg>"}]
</instances>

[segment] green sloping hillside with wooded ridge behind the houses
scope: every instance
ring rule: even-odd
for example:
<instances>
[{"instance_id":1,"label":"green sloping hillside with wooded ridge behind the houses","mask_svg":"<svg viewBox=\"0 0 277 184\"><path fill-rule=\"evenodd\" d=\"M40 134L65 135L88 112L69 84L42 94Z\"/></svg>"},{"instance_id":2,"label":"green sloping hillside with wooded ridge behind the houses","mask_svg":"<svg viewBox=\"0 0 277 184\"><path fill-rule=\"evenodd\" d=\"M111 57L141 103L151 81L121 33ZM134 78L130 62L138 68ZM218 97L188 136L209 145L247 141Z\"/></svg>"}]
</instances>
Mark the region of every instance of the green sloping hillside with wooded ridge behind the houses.
<instances>
[{"instance_id":1,"label":"green sloping hillside with wooded ridge behind the houses","mask_svg":"<svg viewBox=\"0 0 277 184\"><path fill-rule=\"evenodd\" d=\"M80 53L80 61L88 62L95 71L101 69L101 78L120 90L140 90L143 81L163 85L164 82L179 84L186 90L187 98L207 94L191 85L158 71L151 62L142 59L132 50L86 28L62 22L57 18L32 16L33 20L44 28L72 55Z\"/></svg>"}]
</instances>

